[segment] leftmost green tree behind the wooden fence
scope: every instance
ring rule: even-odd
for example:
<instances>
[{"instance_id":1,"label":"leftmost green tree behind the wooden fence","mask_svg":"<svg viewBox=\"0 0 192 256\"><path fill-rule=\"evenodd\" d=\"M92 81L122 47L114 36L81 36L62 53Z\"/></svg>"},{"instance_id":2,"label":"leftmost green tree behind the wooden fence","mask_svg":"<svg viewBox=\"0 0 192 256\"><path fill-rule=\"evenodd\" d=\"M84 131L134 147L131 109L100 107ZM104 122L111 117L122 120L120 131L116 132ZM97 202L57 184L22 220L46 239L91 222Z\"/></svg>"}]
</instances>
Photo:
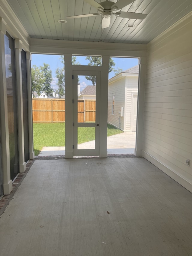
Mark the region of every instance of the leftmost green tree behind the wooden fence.
<instances>
[{"instance_id":1,"label":"leftmost green tree behind the wooden fence","mask_svg":"<svg viewBox=\"0 0 192 256\"><path fill-rule=\"evenodd\" d=\"M41 69L36 65L31 68L31 83L32 83L32 95L34 98L34 92L39 96L42 92L42 87L44 84L44 77Z\"/></svg>"}]
</instances>

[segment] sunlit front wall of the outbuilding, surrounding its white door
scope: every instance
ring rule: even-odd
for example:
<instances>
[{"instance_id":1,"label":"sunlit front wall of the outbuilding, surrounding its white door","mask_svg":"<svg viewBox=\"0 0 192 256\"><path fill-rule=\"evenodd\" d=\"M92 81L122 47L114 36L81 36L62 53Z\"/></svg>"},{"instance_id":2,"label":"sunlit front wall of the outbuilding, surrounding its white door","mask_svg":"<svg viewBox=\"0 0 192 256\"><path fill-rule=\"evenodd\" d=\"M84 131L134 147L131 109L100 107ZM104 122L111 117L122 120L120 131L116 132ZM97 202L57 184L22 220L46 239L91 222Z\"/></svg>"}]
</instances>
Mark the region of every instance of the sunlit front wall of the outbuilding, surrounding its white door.
<instances>
[{"instance_id":1,"label":"sunlit front wall of the outbuilding, surrounding its white door","mask_svg":"<svg viewBox=\"0 0 192 256\"><path fill-rule=\"evenodd\" d=\"M126 77L126 119L125 119L125 131L131 130L131 99L132 93L138 92L138 75Z\"/></svg>"}]
</instances>

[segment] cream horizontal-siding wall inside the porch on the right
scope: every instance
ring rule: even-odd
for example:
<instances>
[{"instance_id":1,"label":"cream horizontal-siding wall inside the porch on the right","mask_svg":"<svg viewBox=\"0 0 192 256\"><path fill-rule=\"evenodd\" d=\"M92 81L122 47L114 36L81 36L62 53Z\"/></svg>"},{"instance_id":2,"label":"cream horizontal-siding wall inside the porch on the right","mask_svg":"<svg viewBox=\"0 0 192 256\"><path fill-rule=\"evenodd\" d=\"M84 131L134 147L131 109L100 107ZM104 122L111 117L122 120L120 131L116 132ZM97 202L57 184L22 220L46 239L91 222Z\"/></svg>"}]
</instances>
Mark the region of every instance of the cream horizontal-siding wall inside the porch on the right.
<instances>
[{"instance_id":1,"label":"cream horizontal-siding wall inside the porch on the right","mask_svg":"<svg viewBox=\"0 0 192 256\"><path fill-rule=\"evenodd\" d=\"M192 191L192 17L149 43L143 156ZM190 166L185 162L190 159Z\"/></svg>"}]
</instances>

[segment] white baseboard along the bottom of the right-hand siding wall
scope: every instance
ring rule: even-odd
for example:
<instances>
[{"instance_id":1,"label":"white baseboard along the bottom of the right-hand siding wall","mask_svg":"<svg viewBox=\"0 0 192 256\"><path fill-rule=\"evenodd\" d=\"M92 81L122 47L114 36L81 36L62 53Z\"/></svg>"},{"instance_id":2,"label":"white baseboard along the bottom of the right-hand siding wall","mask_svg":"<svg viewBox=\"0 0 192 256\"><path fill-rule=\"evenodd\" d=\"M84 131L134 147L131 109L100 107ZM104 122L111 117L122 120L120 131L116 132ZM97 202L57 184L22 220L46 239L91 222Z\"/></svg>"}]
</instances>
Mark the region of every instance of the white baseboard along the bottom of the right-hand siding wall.
<instances>
[{"instance_id":1,"label":"white baseboard along the bottom of the right-hand siding wall","mask_svg":"<svg viewBox=\"0 0 192 256\"><path fill-rule=\"evenodd\" d=\"M186 180L178 173L175 173L173 170L160 163L157 159L149 155L147 152L143 151L142 156L192 193L192 184L190 181Z\"/></svg>"}]
</instances>

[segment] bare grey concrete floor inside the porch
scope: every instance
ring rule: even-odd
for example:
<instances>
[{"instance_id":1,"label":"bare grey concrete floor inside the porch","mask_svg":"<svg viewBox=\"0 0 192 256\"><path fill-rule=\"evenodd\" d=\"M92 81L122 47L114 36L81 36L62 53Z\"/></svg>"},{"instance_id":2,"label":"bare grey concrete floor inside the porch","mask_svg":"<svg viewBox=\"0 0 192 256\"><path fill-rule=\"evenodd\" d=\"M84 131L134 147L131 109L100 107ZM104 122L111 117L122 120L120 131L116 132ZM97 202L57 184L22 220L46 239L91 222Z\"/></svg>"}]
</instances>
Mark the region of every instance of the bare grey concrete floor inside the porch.
<instances>
[{"instance_id":1,"label":"bare grey concrete floor inside the porch","mask_svg":"<svg viewBox=\"0 0 192 256\"><path fill-rule=\"evenodd\" d=\"M192 194L143 158L35 160L1 256L191 256Z\"/></svg>"}]
</instances>

